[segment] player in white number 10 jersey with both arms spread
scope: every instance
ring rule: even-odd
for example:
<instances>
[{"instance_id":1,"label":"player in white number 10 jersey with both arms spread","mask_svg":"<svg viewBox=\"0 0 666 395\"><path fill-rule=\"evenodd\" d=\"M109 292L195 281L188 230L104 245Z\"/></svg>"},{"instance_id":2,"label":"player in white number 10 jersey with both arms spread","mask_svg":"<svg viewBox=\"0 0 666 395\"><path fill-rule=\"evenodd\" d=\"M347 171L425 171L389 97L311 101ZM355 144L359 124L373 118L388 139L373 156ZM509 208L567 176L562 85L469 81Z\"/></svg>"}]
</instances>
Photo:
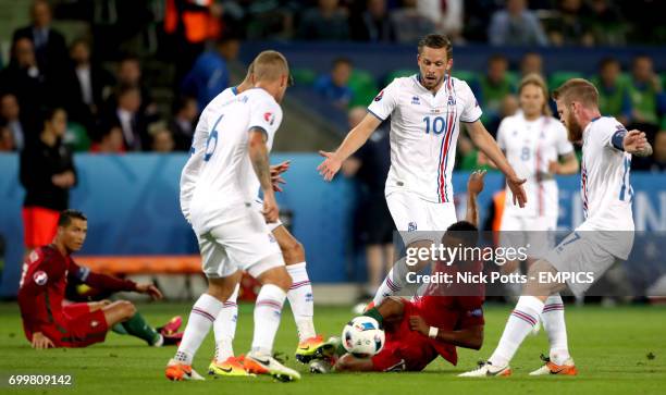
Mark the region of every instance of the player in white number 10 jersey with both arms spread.
<instances>
[{"instance_id":1,"label":"player in white number 10 jersey with both arms spread","mask_svg":"<svg viewBox=\"0 0 666 395\"><path fill-rule=\"evenodd\" d=\"M320 153L325 160L318 171L331 181L342 162L358 150L382 121L391 116L391 169L385 196L396 229L406 246L430 246L422 233L444 232L456 222L452 174L460 122L472 141L505 174L514 203L525 206L521 180L508 164L481 121L481 109L466 82L452 77L453 46L445 36L431 34L418 46L419 74L395 78L368 107L368 114L354 127L335 152ZM431 237L440 239L440 237ZM424 262L421 262L424 264ZM417 266L418 269L420 266ZM373 299L375 306L407 284L411 268L396 262Z\"/></svg>"}]
</instances>

